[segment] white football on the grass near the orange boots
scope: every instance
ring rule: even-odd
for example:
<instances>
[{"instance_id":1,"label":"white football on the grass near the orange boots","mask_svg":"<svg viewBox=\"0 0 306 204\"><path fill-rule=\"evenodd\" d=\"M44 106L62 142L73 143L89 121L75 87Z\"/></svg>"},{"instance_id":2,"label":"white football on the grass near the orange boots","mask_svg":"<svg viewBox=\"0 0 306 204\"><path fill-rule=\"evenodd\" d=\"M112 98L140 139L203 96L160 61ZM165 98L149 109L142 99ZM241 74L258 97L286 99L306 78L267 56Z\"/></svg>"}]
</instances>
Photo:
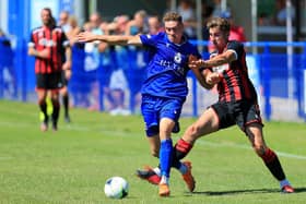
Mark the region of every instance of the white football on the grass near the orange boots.
<instances>
[{"instance_id":1,"label":"white football on the grass near the orange boots","mask_svg":"<svg viewBox=\"0 0 306 204\"><path fill-rule=\"evenodd\" d=\"M111 177L105 182L104 193L110 199L123 199L129 193L129 183L121 177Z\"/></svg>"}]
</instances>

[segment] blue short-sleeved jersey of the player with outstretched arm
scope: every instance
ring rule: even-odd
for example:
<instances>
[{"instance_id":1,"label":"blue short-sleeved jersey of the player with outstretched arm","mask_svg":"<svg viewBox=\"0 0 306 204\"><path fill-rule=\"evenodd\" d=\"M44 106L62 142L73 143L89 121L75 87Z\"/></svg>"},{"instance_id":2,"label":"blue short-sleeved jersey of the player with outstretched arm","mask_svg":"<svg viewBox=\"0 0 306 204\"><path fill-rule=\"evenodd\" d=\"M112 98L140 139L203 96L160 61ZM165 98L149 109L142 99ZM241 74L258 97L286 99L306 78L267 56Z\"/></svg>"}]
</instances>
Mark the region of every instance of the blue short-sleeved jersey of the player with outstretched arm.
<instances>
[{"instance_id":1,"label":"blue short-sleeved jersey of the player with outstretched arm","mask_svg":"<svg viewBox=\"0 0 306 204\"><path fill-rule=\"evenodd\" d=\"M140 39L150 52L141 93L185 99L188 94L186 79L189 71L188 57L195 55L199 58L198 49L187 40L176 45L168 40L165 33L140 35Z\"/></svg>"}]
</instances>

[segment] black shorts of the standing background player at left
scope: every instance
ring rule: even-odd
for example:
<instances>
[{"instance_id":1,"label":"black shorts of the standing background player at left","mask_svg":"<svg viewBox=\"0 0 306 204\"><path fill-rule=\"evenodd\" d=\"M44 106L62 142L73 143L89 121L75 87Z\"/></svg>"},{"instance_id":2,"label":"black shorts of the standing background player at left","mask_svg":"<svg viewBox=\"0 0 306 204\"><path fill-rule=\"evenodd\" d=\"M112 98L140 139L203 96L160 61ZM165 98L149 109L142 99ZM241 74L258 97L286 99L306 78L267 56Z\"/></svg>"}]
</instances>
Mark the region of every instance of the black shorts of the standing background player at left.
<instances>
[{"instance_id":1,"label":"black shorts of the standing background player at left","mask_svg":"<svg viewBox=\"0 0 306 204\"><path fill-rule=\"evenodd\" d=\"M36 74L37 89L59 89L63 86L61 72L49 74Z\"/></svg>"}]
</instances>

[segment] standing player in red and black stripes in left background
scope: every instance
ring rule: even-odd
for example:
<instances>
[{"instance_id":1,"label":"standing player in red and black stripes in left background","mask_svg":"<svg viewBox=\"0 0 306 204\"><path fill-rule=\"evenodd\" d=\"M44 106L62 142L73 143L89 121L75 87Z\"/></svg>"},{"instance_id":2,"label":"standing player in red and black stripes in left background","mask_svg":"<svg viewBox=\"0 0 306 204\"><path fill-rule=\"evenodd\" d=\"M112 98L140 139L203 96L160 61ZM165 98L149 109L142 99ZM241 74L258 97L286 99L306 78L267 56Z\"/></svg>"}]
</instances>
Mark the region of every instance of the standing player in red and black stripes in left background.
<instances>
[{"instance_id":1,"label":"standing player in red and black stripes in left background","mask_svg":"<svg viewBox=\"0 0 306 204\"><path fill-rule=\"evenodd\" d=\"M46 97L50 91L54 107L52 129L56 131L60 110L59 91L62 87L61 72L71 69L71 49L62 28L56 26L51 10L43 9L40 17L43 25L31 34L28 55L35 57L36 93L39 108L45 116L40 130L48 130ZM62 52L66 53L64 62Z\"/></svg>"}]
</instances>

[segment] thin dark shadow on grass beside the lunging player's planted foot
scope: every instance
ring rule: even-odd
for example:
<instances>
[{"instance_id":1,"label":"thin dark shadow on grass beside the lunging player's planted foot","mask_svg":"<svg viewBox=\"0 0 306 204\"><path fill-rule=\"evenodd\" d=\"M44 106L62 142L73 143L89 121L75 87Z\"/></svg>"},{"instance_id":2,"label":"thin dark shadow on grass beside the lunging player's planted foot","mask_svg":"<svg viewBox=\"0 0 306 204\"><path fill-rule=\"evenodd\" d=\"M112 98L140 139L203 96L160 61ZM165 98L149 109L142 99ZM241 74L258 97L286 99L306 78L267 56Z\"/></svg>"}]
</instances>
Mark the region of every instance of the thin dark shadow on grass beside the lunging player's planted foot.
<instances>
[{"instance_id":1,"label":"thin dark shadow on grass beside the lunging player's planted foot","mask_svg":"<svg viewBox=\"0 0 306 204\"><path fill-rule=\"evenodd\" d=\"M306 188L295 188L295 193L306 192ZM246 194L246 193L281 193L280 189L245 189L245 190L232 190L232 191L198 191L192 194L204 195L231 195L231 194Z\"/></svg>"}]
</instances>

